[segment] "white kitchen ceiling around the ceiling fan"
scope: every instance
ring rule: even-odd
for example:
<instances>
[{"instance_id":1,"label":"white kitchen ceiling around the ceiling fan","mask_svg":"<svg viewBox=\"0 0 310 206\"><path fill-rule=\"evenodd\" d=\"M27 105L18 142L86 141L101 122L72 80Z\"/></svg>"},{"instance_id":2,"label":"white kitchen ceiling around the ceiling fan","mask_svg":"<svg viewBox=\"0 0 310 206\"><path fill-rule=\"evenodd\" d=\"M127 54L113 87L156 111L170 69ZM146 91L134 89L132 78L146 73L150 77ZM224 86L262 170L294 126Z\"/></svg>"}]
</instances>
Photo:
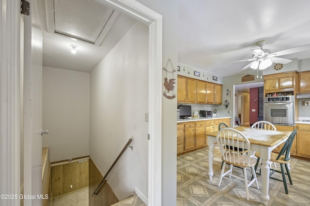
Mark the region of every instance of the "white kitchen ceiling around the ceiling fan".
<instances>
[{"instance_id":1,"label":"white kitchen ceiling around the ceiling fan","mask_svg":"<svg viewBox=\"0 0 310 206\"><path fill-rule=\"evenodd\" d=\"M178 62L219 76L246 73L256 42L277 52L310 44L309 0L179 0ZM310 52L281 56L310 58Z\"/></svg>"}]
</instances>

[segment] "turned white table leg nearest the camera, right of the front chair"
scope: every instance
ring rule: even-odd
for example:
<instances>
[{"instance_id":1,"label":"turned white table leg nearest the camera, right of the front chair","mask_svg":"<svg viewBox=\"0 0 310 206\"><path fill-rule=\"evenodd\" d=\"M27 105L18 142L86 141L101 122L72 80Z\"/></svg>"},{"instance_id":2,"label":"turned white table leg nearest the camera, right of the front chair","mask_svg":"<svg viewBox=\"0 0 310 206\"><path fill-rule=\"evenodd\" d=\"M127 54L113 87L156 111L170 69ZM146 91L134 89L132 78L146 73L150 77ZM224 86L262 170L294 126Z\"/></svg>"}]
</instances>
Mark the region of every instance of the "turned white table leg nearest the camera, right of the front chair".
<instances>
[{"instance_id":1,"label":"turned white table leg nearest the camera, right of the front chair","mask_svg":"<svg viewBox=\"0 0 310 206\"><path fill-rule=\"evenodd\" d=\"M263 204L266 206L268 204L268 201L270 200L270 197L268 194L269 173L270 173L269 160L262 159L261 172L262 172L262 196L261 197L263 199Z\"/></svg>"}]
</instances>

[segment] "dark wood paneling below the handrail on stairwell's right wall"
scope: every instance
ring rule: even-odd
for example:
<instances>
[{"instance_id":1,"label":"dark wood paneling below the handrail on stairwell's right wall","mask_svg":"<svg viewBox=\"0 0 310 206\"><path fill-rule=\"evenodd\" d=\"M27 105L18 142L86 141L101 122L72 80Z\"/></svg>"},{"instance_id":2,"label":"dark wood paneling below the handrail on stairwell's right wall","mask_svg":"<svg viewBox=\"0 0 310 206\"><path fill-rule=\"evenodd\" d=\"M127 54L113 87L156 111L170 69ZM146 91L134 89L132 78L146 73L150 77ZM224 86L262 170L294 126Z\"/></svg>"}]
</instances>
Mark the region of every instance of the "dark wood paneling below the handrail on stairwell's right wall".
<instances>
[{"instance_id":1,"label":"dark wood paneling below the handrail on stairwell's right wall","mask_svg":"<svg viewBox=\"0 0 310 206\"><path fill-rule=\"evenodd\" d=\"M92 159L89 159L89 206L110 206L119 201L108 182L103 184L97 195L93 195L93 192L102 179L103 175L93 163Z\"/></svg>"}]
</instances>

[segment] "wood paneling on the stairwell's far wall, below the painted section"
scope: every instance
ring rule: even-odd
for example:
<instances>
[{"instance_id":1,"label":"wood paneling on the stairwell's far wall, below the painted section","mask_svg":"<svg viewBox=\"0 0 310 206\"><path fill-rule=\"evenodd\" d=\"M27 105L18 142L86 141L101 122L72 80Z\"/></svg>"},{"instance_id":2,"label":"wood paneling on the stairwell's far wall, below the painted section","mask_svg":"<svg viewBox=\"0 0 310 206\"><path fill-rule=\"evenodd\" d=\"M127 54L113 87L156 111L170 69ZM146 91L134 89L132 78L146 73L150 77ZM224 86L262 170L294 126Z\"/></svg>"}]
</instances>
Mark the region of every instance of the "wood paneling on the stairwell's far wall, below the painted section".
<instances>
[{"instance_id":1,"label":"wood paneling on the stairwell's far wall, below the painted section","mask_svg":"<svg viewBox=\"0 0 310 206\"><path fill-rule=\"evenodd\" d=\"M88 164L87 160L52 166L52 196L57 197L88 187ZM73 186L72 189L70 185Z\"/></svg>"}]
</instances>

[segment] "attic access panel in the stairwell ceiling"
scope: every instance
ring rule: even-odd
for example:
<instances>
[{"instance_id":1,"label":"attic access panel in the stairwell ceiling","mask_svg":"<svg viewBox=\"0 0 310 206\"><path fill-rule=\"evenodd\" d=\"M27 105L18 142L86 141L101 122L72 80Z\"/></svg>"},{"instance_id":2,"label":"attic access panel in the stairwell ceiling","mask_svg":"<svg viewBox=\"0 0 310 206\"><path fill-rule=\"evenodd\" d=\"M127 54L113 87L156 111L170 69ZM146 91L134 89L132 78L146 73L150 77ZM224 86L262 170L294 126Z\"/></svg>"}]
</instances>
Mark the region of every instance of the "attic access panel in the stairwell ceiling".
<instances>
[{"instance_id":1,"label":"attic access panel in the stairwell ceiling","mask_svg":"<svg viewBox=\"0 0 310 206\"><path fill-rule=\"evenodd\" d=\"M93 0L54 0L54 32L95 44L113 12Z\"/></svg>"}]
</instances>

